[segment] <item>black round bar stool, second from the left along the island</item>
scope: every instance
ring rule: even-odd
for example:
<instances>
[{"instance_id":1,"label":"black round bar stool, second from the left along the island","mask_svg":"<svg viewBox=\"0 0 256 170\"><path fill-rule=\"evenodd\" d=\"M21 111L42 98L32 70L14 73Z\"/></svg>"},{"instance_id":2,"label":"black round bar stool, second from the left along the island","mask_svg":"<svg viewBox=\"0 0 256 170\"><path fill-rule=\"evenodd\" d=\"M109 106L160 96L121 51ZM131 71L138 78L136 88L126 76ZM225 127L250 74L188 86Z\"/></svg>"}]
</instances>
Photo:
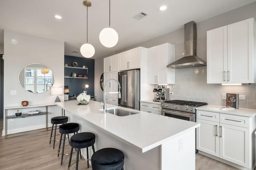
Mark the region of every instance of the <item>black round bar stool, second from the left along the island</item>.
<instances>
[{"instance_id":1,"label":"black round bar stool, second from the left along the island","mask_svg":"<svg viewBox=\"0 0 256 170\"><path fill-rule=\"evenodd\" d=\"M59 154L61 154L61 163L60 163L60 165L62 165L66 134L70 134L70 133L75 134L75 132L77 134L78 130L80 129L80 126L79 126L78 123L65 123L63 125L60 125L59 129L60 129L60 144L59 144L59 149L58 149L58 157L59 157ZM61 148L60 146L61 146L61 140L62 140L62 135L63 134L64 134L64 139L63 139L62 153L60 153L60 148ZM68 135L68 142L70 143L69 135ZM68 155L68 154L65 154L65 155Z\"/></svg>"}]
</instances>

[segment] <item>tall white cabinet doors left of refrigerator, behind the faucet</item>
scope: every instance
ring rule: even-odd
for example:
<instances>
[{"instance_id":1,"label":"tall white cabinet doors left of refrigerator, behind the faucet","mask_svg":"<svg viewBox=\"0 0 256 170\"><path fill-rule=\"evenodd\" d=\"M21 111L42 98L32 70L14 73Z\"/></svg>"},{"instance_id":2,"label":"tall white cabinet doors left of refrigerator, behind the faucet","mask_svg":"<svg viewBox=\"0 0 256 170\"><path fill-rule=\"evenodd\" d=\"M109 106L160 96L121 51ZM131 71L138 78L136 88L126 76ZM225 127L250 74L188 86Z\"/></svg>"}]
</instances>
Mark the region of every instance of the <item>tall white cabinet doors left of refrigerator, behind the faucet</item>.
<instances>
[{"instance_id":1,"label":"tall white cabinet doors left of refrigerator, behind the faucet","mask_svg":"<svg viewBox=\"0 0 256 170\"><path fill-rule=\"evenodd\" d=\"M105 82L110 78L114 78L118 80L118 71L111 72L111 73L104 73L104 85L105 85ZM118 84L116 83L116 81L110 80L106 83L106 103L111 105L118 105L118 94L109 93L109 92L117 92L117 91L118 91Z\"/></svg>"}]
</instances>

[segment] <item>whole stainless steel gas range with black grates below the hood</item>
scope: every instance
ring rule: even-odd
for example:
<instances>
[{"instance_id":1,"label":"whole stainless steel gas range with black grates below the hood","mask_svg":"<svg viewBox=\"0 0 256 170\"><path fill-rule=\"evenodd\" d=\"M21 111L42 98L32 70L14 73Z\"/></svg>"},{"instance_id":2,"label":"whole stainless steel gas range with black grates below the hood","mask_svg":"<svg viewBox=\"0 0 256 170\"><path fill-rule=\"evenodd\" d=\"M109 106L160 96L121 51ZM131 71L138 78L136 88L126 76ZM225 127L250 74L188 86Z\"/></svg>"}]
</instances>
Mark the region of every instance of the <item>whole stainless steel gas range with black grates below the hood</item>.
<instances>
[{"instance_id":1,"label":"whole stainless steel gas range with black grates below the hood","mask_svg":"<svg viewBox=\"0 0 256 170\"><path fill-rule=\"evenodd\" d=\"M207 103L196 101L171 100L161 103L162 115L187 121L196 121L196 107Z\"/></svg>"}]
</instances>

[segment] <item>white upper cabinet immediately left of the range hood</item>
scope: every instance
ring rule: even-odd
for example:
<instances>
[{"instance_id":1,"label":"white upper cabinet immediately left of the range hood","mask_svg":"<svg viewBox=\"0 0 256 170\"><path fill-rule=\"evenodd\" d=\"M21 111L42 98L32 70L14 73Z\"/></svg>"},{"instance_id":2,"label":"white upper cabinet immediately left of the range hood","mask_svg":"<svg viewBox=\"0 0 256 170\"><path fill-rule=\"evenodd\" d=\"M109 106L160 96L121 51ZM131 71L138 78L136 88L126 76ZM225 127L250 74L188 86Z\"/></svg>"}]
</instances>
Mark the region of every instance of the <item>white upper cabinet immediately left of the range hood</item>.
<instances>
[{"instance_id":1,"label":"white upper cabinet immediately left of the range hood","mask_svg":"<svg viewBox=\"0 0 256 170\"><path fill-rule=\"evenodd\" d=\"M166 65L174 62L174 45L164 43L148 49L148 84L174 84L175 71Z\"/></svg>"}]
</instances>

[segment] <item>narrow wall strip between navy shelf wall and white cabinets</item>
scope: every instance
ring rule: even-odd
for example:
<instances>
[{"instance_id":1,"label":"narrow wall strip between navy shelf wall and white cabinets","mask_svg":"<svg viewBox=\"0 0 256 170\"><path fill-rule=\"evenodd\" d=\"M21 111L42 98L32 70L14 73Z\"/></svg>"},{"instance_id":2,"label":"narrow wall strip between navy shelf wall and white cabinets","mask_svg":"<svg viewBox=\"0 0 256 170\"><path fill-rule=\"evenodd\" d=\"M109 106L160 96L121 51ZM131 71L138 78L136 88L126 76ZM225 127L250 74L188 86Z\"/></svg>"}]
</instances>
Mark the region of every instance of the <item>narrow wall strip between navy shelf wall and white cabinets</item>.
<instances>
[{"instance_id":1,"label":"narrow wall strip between navy shelf wall and white cabinets","mask_svg":"<svg viewBox=\"0 0 256 170\"><path fill-rule=\"evenodd\" d=\"M94 96L95 101L99 102L103 101L103 91L100 88L100 76L104 71L103 64L103 57L94 60Z\"/></svg>"}]
</instances>

